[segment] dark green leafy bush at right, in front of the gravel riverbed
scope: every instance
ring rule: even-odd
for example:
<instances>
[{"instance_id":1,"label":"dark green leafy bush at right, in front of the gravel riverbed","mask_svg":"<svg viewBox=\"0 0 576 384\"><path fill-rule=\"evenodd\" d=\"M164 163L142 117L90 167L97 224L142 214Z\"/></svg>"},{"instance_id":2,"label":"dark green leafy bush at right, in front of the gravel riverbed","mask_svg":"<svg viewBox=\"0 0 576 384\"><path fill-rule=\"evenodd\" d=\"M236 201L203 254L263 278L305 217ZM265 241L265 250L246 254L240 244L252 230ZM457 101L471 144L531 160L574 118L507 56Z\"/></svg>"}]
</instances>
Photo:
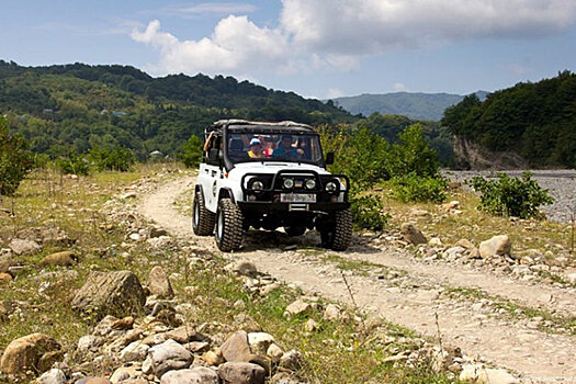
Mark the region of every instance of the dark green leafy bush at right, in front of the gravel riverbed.
<instances>
[{"instance_id":1,"label":"dark green leafy bush at right, in front of the gravel riverbed","mask_svg":"<svg viewBox=\"0 0 576 384\"><path fill-rule=\"evenodd\" d=\"M539 217L538 207L554 202L547 190L543 190L530 172L524 172L522 179L510 178L505 173L498 173L498 180L476 176L470 184L482 193L478 210L494 215Z\"/></svg>"}]
</instances>

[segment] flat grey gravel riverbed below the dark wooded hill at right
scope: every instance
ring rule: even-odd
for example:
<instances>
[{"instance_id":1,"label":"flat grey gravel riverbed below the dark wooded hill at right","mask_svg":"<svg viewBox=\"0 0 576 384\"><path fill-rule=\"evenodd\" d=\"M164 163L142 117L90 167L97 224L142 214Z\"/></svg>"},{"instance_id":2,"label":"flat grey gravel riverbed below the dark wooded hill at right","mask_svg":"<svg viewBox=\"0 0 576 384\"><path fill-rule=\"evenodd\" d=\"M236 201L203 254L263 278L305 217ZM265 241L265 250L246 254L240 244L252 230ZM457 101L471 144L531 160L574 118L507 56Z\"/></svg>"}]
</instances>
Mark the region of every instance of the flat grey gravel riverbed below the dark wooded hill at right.
<instances>
[{"instance_id":1,"label":"flat grey gravel riverbed below the dark wooded hill at right","mask_svg":"<svg viewBox=\"0 0 576 384\"><path fill-rule=\"evenodd\" d=\"M442 174L452 181L465 181L474 176L485 178L496 178L499 172L507 173L510 177L522 177L523 170L502 170L502 171L454 171L443 170ZM532 178L540 185L549 190L555 202L551 205L542 206L542 211L547 219L553 222L568 223L572 216L576 216L576 170L530 170Z\"/></svg>"}]
</instances>

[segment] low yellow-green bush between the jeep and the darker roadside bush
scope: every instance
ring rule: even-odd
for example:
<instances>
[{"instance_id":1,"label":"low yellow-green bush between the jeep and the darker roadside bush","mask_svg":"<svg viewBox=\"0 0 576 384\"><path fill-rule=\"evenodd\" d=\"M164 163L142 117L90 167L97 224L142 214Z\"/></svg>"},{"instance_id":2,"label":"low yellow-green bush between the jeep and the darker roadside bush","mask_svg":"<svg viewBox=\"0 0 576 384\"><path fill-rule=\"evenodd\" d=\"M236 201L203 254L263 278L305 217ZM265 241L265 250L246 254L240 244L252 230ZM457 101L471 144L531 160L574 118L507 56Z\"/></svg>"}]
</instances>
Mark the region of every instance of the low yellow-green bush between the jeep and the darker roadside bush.
<instances>
[{"instance_id":1,"label":"low yellow-green bush between the jeep and the darker roadside bush","mask_svg":"<svg viewBox=\"0 0 576 384\"><path fill-rule=\"evenodd\" d=\"M393 178L389 184L394 196L403 203L441 203L447 199L444 191L448 182L440 176L423 177L413 172Z\"/></svg>"}]
</instances>

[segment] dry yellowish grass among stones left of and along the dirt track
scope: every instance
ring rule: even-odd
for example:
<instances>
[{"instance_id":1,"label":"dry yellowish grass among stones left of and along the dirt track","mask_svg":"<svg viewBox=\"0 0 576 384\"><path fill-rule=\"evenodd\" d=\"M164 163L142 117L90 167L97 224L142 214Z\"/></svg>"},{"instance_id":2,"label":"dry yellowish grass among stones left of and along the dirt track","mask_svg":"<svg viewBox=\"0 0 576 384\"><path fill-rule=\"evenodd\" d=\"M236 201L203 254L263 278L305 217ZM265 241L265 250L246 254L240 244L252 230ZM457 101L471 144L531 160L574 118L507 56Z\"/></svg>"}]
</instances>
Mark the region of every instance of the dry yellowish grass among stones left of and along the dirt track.
<instances>
[{"instance_id":1,"label":"dry yellowish grass among stones left of and along the dirt track","mask_svg":"<svg viewBox=\"0 0 576 384\"><path fill-rule=\"evenodd\" d=\"M0 213L4 215L0 226L2 248L19 230L55 226L77 239L69 248L80 258L72 268L47 267L44 270L37 267L44 256L68 247L48 247L37 255L16 258L22 270L13 282L0 289L0 302L10 302L19 309L0 319L0 350L15 338L43 332L72 352L72 359L76 359L72 363L84 362L86 357L76 353L75 346L81 336L91 331L97 319L72 312L69 303L88 274L93 270L131 270L140 281L146 281L151 268L162 266L169 275L176 273L172 283L179 297L196 306L197 310L185 315L192 325L208 324L228 331L235 316L248 314L264 331L273 335L284 350L295 348L305 354L307 364L298 374L313 383L453 382L450 375L433 372L426 360L418 361L415 366L384 363L384 359L396 353L398 348L413 347L383 347L380 334L366 338L363 323L354 320L354 316L349 316L351 319L347 321L325 321L321 310L315 309L303 316L284 317L286 306L300 296L300 292L283 285L264 297L250 293L236 276L224 272L226 261L218 255L206 253L202 256L204 262L189 264L192 255L188 255L185 248L150 251L143 244L127 241L128 218L126 215L112 216L109 205L132 204L129 201L117 202L114 197L131 190L131 185L139 180L153 176L166 180L179 172L178 168L163 168L162 165L139 166L132 172L103 172L78 179L49 170L35 171L23 182L16 197L0 201L0 206L11 208L13 205L15 212L14 216ZM121 256L125 252L127 258ZM372 268L366 262L332 261L346 270ZM196 294L184 293L189 285L197 287ZM238 301L244 305L235 306ZM317 331L305 329L308 318L320 325ZM384 324L379 332L408 339L416 337L414 332L389 324ZM83 366L82 370L91 374L110 374L115 368L108 362Z\"/></svg>"}]
</instances>

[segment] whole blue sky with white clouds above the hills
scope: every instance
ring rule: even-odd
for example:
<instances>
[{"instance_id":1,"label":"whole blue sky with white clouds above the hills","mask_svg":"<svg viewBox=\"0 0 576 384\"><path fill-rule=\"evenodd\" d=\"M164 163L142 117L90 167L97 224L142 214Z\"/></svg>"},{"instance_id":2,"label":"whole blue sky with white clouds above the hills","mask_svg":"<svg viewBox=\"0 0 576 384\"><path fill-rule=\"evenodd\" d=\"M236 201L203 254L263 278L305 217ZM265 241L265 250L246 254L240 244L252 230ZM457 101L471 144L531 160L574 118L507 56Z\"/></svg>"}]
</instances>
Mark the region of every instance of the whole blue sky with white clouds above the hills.
<instances>
[{"instance_id":1,"label":"whole blue sky with white clouds above the hills","mask_svg":"<svg viewBox=\"0 0 576 384\"><path fill-rule=\"evenodd\" d=\"M0 59L234 76L329 99L576 70L576 0L0 0Z\"/></svg>"}]
</instances>

